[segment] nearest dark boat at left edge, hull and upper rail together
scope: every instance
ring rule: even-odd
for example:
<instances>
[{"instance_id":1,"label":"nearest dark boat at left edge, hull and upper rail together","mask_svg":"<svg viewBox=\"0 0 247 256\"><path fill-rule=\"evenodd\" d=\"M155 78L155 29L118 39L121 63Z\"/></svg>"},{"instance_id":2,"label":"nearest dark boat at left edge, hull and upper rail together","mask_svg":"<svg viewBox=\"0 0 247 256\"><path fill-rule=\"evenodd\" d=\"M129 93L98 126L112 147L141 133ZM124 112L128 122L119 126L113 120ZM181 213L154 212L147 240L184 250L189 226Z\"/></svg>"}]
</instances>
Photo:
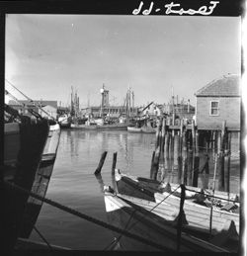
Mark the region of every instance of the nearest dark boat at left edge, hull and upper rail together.
<instances>
[{"instance_id":1,"label":"nearest dark boat at left edge, hull and upper rail together","mask_svg":"<svg viewBox=\"0 0 247 256\"><path fill-rule=\"evenodd\" d=\"M29 196L13 188L31 191L48 136L48 121L21 116L5 104L3 211L4 251L17 241Z\"/></svg>"}]
</instances>

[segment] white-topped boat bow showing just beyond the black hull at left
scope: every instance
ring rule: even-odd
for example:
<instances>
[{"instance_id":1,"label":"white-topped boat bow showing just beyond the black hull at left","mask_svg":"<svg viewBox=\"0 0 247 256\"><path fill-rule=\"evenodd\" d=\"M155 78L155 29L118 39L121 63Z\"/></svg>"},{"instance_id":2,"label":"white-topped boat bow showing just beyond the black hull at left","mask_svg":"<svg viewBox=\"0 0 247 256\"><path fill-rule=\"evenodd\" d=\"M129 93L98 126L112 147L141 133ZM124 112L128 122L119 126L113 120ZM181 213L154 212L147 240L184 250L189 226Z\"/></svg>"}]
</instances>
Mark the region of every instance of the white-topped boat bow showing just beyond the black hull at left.
<instances>
[{"instance_id":1,"label":"white-topped boat bow showing just beyond the black hull at left","mask_svg":"<svg viewBox=\"0 0 247 256\"><path fill-rule=\"evenodd\" d=\"M60 138L59 125L52 121L50 121L50 123L51 124L49 126L48 137L41 157L41 164L39 166L38 172L36 173L35 181L31 190L31 192L41 196L42 198L45 197L48 188ZM41 200L29 197L19 237L30 237L34 225L41 212L41 206Z\"/></svg>"}]
</instances>

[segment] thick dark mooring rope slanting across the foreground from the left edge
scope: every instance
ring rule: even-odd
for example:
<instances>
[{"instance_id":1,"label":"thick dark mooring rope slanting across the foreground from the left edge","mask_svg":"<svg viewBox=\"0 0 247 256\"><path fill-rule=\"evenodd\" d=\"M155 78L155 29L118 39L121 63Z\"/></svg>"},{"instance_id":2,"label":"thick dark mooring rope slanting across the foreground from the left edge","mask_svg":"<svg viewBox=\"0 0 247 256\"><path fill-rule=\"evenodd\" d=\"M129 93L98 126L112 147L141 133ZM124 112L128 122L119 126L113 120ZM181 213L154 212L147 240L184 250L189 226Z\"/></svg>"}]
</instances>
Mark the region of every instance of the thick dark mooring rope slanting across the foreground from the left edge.
<instances>
[{"instance_id":1,"label":"thick dark mooring rope slanting across the foreground from the left edge","mask_svg":"<svg viewBox=\"0 0 247 256\"><path fill-rule=\"evenodd\" d=\"M106 223L106 222L104 222L104 221L102 221L102 220L100 220L100 219L98 219L98 218L89 216L89 215L87 215L87 214L85 214L85 213L80 213L80 212L78 212L78 211L76 211L76 210L73 210L73 209L71 209L71 208L68 208L68 207L66 207L66 206L63 206L63 205L61 205L61 204L59 204L59 203L57 203L57 202L55 202L55 201L52 201L52 200L50 200L50 199L42 198L40 195L37 195L37 194L35 194L35 193L33 193L33 192L29 192L29 191L27 191L26 189L23 189L23 188L20 187L20 186L11 184L11 183L8 182L8 181L2 181L2 183L4 183L4 185L6 185L6 186L8 186L8 187L10 187L10 188L12 188L12 189L14 189L14 190L18 190L18 191L21 192L21 193L28 194L29 196L31 196L31 197L33 197L33 198L35 198L35 199L38 199L38 200L40 200L41 202L44 202L44 203L46 203L46 204L48 204L48 205L50 205L50 206L52 206L52 207L55 207L55 208L57 208L57 209L59 209L59 210L62 210L62 211L64 211L64 212L66 212L66 213L70 213L70 214L76 215L76 216L78 216L78 217L80 217L80 218L83 218L83 219L86 219L86 220L88 220L88 221L90 221L90 222L92 222L92 223L95 223L95 224L100 225L100 226L102 226L102 227L111 229L112 231L115 231L115 232L118 232L118 233L123 233L125 236L128 236L128 237L130 237L130 238L132 238L132 239L134 239L134 240L137 240L137 241L139 241L139 242L142 242L142 243L144 243L144 244L151 245L151 246L156 247L156 248L158 248L158 249L160 249L160 250L163 250L163 251L166 251L166 252L174 252L172 249L169 249L169 248L167 248L167 247L164 246L164 245L161 245L161 244L156 243L156 242L154 242L154 241L151 241L151 240L148 240L148 239L146 239L146 238L143 238L143 237L141 237L141 236L139 236L139 235L130 233L130 232L128 232L128 231L125 231L125 230L122 229L122 228L119 228L119 227L117 227L117 226L115 226L115 225Z\"/></svg>"}]
</instances>

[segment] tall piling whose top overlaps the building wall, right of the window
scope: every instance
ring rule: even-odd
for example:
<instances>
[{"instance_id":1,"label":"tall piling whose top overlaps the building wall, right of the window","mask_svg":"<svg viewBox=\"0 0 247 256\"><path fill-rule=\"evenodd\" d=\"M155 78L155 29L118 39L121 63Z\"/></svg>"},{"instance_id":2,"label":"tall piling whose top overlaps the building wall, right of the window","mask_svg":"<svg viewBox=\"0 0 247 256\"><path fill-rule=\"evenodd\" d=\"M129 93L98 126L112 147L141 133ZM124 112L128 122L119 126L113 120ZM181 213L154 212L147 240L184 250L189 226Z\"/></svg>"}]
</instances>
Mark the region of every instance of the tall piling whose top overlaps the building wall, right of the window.
<instances>
[{"instance_id":1,"label":"tall piling whose top overlaps the building wall, right of the window","mask_svg":"<svg viewBox=\"0 0 247 256\"><path fill-rule=\"evenodd\" d=\"M223 121L221 129L221 139L220 139L220 152L219 152L219 172L218 172L218 190L224 191L224 147L225 147L225 127L226 122Z\"/></svg>"}]
</instances>

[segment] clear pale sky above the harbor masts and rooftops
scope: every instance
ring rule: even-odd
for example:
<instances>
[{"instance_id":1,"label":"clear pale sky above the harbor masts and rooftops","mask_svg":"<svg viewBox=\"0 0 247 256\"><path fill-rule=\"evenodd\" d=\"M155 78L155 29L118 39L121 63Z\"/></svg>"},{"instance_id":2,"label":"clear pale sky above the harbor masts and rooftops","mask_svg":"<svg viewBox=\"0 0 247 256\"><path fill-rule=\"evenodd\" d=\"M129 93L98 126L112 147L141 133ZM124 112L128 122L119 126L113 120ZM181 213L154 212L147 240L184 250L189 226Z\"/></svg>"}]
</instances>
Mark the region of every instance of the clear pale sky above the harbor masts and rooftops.
<instances>
[{"instance_id":1,"label":"clear pale sky above the harbor masts and rooftops","mask_svg":"<svg viewBox=\"0 0 247 256\"><path fill-rule=\"evenodd\" d=\"M213 79L241 73L239 17L22 15L6 18L5 78L33 100L99 106L190 99ZM16 98L24 99L11 88Z\"/></svg>"}]
</instances>

